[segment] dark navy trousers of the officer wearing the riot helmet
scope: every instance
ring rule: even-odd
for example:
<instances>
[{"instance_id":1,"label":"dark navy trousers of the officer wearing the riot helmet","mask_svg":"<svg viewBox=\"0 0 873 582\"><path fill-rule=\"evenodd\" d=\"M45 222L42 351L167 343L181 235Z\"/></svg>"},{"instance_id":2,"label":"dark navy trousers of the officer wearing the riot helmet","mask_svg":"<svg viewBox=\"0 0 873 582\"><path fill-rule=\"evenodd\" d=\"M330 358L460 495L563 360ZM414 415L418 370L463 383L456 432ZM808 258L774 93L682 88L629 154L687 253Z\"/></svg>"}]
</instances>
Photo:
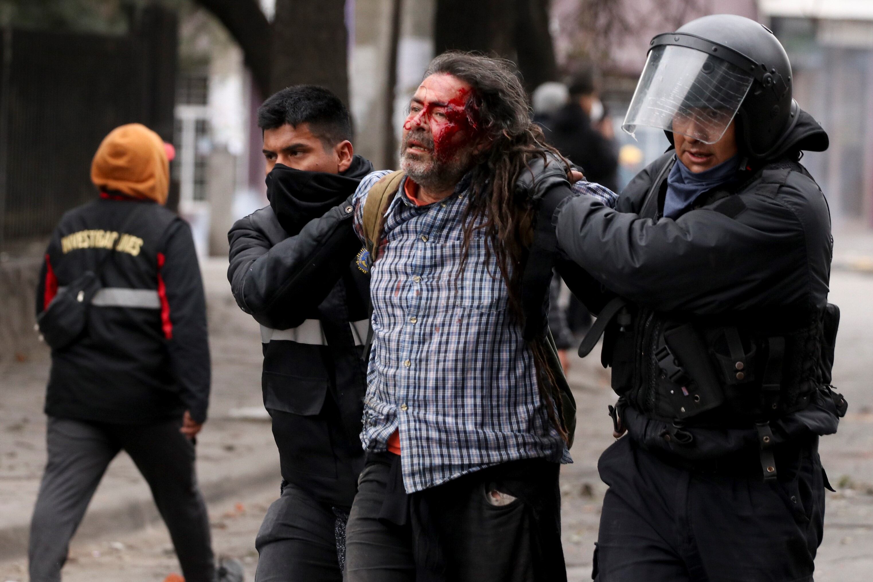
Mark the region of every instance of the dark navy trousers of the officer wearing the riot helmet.
<instances>
[{"instance_id":1,"label":"dark navy trousers of the officer wearing the riot helmet","mask_svg":"<svg viewBox=\"0 0 873 582\"><path fill-rule=\"evenodd\" d=\"M750 466L757 463L757 455ZM779 479L682 469L627 436L601 455L600 582L813 579L826 477L814 441L777 455Z\"/></svg>"}]
</instances>

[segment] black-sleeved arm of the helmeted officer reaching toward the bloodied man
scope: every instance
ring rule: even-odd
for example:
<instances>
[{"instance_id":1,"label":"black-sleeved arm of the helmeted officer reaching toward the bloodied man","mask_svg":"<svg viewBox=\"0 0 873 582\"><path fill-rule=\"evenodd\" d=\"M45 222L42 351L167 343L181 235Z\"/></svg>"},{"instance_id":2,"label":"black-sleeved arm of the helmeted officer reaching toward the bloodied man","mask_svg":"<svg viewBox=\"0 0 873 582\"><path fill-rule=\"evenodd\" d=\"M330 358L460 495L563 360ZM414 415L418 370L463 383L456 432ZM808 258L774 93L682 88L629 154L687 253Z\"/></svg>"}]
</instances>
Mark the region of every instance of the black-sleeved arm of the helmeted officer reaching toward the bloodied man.
<instances>
[{"instance_id":1,"label":"black-sleeved arm of the helmeted officer reaching toward the bloodied man","mask_svg":"<svg viewBox=\"0 0 873 582\"><path fill-rule=\"evenodd\" d=\"M771 198L744 199L749 208L736 216L717 204L654 222L578 196L557 211L558 244L609 291L657 310L723 312L775 294L801 298L801 222Z\"/></svg>"}]
</instances>

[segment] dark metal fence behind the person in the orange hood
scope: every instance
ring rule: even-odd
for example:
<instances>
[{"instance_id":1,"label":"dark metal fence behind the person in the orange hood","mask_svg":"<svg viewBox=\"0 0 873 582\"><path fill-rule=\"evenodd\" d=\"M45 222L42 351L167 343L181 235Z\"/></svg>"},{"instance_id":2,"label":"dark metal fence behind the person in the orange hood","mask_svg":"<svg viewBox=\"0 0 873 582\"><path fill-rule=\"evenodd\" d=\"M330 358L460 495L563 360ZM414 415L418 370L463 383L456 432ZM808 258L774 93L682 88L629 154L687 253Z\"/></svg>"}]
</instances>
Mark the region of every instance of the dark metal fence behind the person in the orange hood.
<instances>
[{"instance_id":1,"label":"dark metal fence behind the person in the orange hood","mask_svg":"<svg viewBox=\"0 0 873 582\"><path fill-rule=\"evenodd\" d=\"M0 249L49 236L93 199L91 160L113 127L139 121L172 139L175 16L152 10L139 24L124 37L3 31Z\"/></svg>"}]
</instances>

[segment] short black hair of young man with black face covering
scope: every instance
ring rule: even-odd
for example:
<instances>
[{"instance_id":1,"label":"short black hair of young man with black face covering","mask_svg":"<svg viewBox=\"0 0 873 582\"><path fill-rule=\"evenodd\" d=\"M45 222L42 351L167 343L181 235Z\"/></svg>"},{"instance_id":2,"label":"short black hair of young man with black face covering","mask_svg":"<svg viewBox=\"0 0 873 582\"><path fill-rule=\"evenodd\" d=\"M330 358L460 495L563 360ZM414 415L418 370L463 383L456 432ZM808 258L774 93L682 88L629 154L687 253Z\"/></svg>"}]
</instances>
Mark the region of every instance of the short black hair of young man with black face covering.
<instances>
[{"instance_id":1,"label":"short black hair of young man with black face covering","mask_svg":"<svg viewBox=\"0 0 873 582\"><path fill-rule=\"evenodd\" d=\"M277 129L308 123L310 131L329 147L352 139L352 117L342 99L317 85L285 87L258 107L258 127Z\"/></svg>"}]
</instances>

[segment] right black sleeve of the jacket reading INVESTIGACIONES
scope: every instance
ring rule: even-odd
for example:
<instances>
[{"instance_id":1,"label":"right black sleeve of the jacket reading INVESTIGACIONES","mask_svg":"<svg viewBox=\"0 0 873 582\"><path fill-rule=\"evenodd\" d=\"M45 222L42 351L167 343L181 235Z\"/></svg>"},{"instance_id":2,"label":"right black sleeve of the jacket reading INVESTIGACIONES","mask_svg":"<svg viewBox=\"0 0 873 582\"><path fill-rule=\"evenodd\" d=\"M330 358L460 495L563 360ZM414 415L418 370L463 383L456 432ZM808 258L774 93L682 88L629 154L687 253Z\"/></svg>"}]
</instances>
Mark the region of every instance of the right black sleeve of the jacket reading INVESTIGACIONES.
<instances>
[{"instance_id":1,"label":"right black sleeve of the jacket reading INVESTIGACIONES","mask_svg":"<svg viewBox=\"0 0 873 582\"><path fill-rule=\"evenodd\" d=\"M206 298L194 238L188 223L182 219L168 227L163 257L160 273L166 295L164 315L169 316L169 322L164 321L169 364L191 418L203 422L210 401Z\"/></svg>"}]
</instances>

